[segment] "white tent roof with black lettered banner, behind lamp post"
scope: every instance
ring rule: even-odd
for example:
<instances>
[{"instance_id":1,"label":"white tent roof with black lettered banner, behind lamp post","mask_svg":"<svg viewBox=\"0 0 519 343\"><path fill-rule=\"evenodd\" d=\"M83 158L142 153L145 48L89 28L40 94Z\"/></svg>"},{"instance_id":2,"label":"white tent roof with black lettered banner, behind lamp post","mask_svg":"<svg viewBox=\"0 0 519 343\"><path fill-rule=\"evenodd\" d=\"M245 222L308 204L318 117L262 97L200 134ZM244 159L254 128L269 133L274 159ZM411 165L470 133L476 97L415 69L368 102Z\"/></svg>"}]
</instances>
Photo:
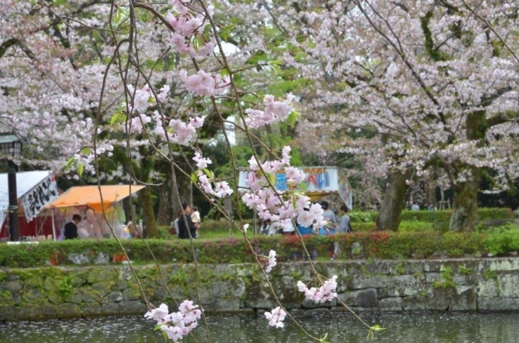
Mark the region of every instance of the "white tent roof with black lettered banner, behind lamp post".
<instances>
[{"instance_id":1,"label":"white tent roof with black lettered banner, behind lamp post","mask_svg":"<svg viewBox=\"0 0 519 343\"><path fill-rule=\"evenodd\" d=\"M54 199L58 198L54 174L51 170L16 173L17 199L22 203L27 221L32 220ZM9 186L6 173L0 174L0 230L9 208Z\"/></svg>"}]
</instances>

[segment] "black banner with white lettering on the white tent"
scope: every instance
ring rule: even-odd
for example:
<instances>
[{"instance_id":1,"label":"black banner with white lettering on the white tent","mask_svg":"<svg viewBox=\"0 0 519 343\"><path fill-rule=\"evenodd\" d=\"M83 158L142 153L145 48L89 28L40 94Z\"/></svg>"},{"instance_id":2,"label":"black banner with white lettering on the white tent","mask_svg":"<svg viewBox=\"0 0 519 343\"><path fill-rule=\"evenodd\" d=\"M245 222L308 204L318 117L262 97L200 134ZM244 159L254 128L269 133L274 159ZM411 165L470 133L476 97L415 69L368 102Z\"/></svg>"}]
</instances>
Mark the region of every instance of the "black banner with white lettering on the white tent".
<instances>
[{"instance_id":1,"label":"black banner with white lettering on the white tent","mask_svg":"<svg viewBox=\"0 0 519 343\"><path fill-rule=\"evenodd\" d=\"M43 206L58 198L58 195L58 186L54 175L49 175L36 187L28 191L21 199L27 222L36 217Z\"/></svg>"}]
</instances>

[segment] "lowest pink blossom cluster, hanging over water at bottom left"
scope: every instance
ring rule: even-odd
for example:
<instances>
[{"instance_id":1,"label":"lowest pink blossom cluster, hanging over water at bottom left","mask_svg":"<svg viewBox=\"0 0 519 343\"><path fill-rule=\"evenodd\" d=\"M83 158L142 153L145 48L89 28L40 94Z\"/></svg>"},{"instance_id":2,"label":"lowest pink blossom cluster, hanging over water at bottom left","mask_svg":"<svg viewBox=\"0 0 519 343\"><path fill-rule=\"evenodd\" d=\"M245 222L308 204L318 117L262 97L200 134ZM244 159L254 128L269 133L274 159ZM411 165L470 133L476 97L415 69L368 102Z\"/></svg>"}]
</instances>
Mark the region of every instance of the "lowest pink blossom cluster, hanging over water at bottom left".
<instances>
[{"instance_id":1,"label":"lowest pink blossom cluster, hanging over water at bottom left","mask_svg":"<svg viewBox=\"0 0 519 343\"><path fill-rule=\"evenodd\" d=\"M198 305L193 305L193 302L184 300L177 312L170 314L168 305L161 304L158 308L147 311L144 318L156 321L160 330L166 332L168 338L172 339L173 342L177 342L196 328L201 315L202 311L198 309Z\"/></svg>"}]
</instances>

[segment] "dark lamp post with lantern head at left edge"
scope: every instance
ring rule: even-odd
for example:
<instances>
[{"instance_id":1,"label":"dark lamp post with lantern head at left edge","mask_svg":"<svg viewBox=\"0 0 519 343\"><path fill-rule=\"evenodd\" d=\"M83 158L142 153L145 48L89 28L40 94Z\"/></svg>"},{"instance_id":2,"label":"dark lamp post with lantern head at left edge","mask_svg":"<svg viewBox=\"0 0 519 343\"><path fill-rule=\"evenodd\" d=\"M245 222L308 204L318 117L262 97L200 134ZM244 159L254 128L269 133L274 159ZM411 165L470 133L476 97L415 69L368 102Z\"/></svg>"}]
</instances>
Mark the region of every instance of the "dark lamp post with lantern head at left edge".
<instances>
[{"instance_id":1,"label":"dark lamp post with lantern head at left edge","mask_svg":"<svg viewBox=\"0 0 519 343\"><path fill-rule=\"evenodd\" d=\"M8 189L9 189L9 234L11 241L18 241L18 193L16 190L16 164L13 158L22 154L22 141L13 133L0 133L0 149L8 161ZM9 158L10 157L10 158Z\"/></svg>"}]
</instances>

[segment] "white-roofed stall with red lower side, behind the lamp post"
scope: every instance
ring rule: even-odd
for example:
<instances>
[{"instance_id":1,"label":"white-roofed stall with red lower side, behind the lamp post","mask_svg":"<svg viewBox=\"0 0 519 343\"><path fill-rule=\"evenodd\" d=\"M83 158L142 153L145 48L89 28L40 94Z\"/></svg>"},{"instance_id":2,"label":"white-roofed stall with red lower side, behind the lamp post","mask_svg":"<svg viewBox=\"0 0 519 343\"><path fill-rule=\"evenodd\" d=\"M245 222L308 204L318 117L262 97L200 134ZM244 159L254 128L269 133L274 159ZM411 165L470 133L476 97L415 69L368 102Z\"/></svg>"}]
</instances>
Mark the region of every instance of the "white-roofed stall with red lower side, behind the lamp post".
<instances>
[{"instance_id":1,"label":"white-roofed stall with red lower side, behind the lamp post","mask_svg":"<svg viewBox=\"0 0 519 343\"><path fill-rule=\"evenodd\" d=\"M16 173L18 199L18 228L22 239L48 238L51 234L50 218L41 216L41 210L57 199L58 186L50 170L33 170ZM0 239L8 239L6 217L9 210L8 175L0 174Z\"/></svg>"}]
</instances>

